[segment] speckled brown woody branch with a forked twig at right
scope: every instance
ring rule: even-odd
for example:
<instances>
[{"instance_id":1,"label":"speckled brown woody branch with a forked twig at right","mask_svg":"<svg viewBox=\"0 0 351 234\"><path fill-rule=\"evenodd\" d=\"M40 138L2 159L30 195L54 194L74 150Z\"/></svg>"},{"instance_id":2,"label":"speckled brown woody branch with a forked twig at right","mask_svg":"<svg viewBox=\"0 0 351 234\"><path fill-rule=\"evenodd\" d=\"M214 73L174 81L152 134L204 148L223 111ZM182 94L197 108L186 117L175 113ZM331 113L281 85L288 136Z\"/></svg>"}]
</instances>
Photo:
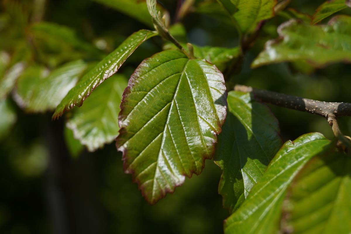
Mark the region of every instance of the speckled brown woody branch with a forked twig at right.
<instances>
[{"instance_id":1,"label":"speckled brown woody branch with a forked twig at right","mask_svg":"<svg viewBox=\"0 0 351 234\"><path fill-rule=\"evenodd\" d=\"M321 102L308 98L301 98L283 93L276 93L267 90L253 89L249 86L236 85L234 90L252 93L255 99L273 105L313 113L323 116L332 126L334 135L340 139L343 135L340 132L337 117L351 116L351 103Z\"/></svg>"}]
</instances>

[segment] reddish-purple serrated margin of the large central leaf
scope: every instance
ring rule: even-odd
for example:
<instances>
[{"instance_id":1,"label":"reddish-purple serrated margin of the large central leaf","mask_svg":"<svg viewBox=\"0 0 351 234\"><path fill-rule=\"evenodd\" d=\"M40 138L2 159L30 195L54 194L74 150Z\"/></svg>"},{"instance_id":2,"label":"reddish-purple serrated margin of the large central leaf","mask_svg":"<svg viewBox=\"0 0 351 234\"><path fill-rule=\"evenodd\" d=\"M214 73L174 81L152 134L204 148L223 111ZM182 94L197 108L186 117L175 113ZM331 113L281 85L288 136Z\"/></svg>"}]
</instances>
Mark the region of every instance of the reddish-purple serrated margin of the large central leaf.
<instances>
[{"instance_id":1,"label":"reddish-purple serrated margin of the large central leaf","mask_svg":"<svg viewBox=\"0 0 351 234\"><path fill-rule=\"evenodd\" d=\"M168 49L168 50L174 50L174 49ZM177 49L177 50L178 50L178 49ZM178 50L178 51L180 51L180 50ZM163 52L163 51L161 51L161 52ZM159 53L161 53L161 52L159 52ZM168 188L165 189L165 193L163 193L161 196L156 197L156 198L154 198L153 200L148 199L148 197L147 197L147 195L146 195L146 191L143 190L143 189L140 187L140 186L141 186L140 181L139 181L138 179L136 179L135 176L134 176L134 170L128 168L128 166L127 166L126 160L127 160L127 158L128 158L128 150L127 150L126 148L122 147L122 145L120 145L120 141L119 141L118 137L119 137L122 133L124 133L124 132L126 131L126 128L125 128L125 127L122 127L122 128L121 128L121 125L120 125L121 118L122 118L122 104L124 104L124 103L126 102L127 95L131 92L131 87L134 86L134 82L137 80L137 75L136 75L136 74L137 74L138 71L140 70L141 65L143 65L145 62L147 62L148 60L152 59L154 56L156 56L156 55L159 54L159 53L156 53L156 54L154 54L153 56L144 59L144 60L139 64L139 66L135 69L135 71L134 71L133 74L131 75L130 79L128 80L128 85L127 85L127 87L125 88L125 90L124 90L124 92L123 92L123 95L122 95L122 100L121 100L121 104L120 104L120 109L121 109L121 110L120 110L119 115L118 115L118 119L119 119L119 123L118 123L118 124L119 124L119 126L120 126L119 135L118 135L118 136L116 137L116 139L115 139L115 145L116 145L117 150L120 151L120 152L122 152L122 161L123 161L123 170L124 170L124 173L126 173L126 174L132 174L132 182L138 184L138 189L141 191L141 195L145 198L145 200L146 200L150 205L156 204L158 201L160 201L161 199L163 199L164 197L166 197L167 194L173 194L177 187L180 187L180 186L182 186L182 185L184 184L185 180L181 181L180 183L176 183L176 184L174 185L174 188L173 188L173 189L168 189ZM222 72L217 68L216 65L210 63L210 62L207 61L206 59L203 59L203 60L206 61L207 63L213 65L213 66L215 67L216 71L218 71L220 74L222 74ZM225 80L224 80L223 74L222 74L222 81L223 81L223 84L225 85ZM206 155L201 155L201 157L202 157L202 165L203 165L202 168L201 168L201 170L200 170L198 173L197 173L196 171L194 171L194 170L190 170L188 175L185 174L185 173L182 174L184 177L191 178L192 175L194 175L194 174L195 174L195 175L200 175L200 174L202 173L203 169L205 168L205 161L206 161L206 160L211 160L211 159L213 158L214 152L216 151L216 144L218 143L218 135L222 132L222 126L223 126L223 124L224 124L224 122L225 122L225 120L226 120L226 116L227 116L227 108L228 108L227 97L228 97L228 91L226 90L225 93L224 93L224 100L225 100L225 103L224 103L224 104L225 104L225 110L226 110L226 112L225 112L225 115L224 115L224 116L221 116L221 117L223 118L223 121L221 121L221 123L220 123L220 122L217 123L217 124L219 124L220 129L219 129L219 131L218 131L217 133L216 133L216 132L214 133L214 137L215 137L216 139L215 139L215 142L214 142L213 145L212 145L212 148L211 148L211 151L210 151L209 154L208 154L208 157L204 157L204 156L206 156Z\"/></svg>"}]
</instances>

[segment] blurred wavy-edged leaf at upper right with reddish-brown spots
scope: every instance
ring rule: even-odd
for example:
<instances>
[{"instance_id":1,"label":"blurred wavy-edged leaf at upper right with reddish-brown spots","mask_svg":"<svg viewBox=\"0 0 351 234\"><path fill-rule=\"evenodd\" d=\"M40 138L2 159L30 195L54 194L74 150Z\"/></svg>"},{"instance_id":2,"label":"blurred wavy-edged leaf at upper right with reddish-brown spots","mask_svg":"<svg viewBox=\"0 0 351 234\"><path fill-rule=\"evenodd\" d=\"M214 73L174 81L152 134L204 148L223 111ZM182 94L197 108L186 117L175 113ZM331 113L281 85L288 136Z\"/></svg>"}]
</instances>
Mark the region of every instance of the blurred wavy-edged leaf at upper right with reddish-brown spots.
<instances>
[{"instance_id":1,"label":"blurred wavy-edged leaf at upper right with reddish-brown spots","mask_svg":"<svg viewBox=\"0 0 351 234\"><path fill-rule=\"evenodd\" d=\"M292 19L280 25L278 33L280 38L267 41L252 67L297 60L306 60L315 67L351 61L349 16L336 16L327 25L309 25Z\"/></svg>"}]
</instances>

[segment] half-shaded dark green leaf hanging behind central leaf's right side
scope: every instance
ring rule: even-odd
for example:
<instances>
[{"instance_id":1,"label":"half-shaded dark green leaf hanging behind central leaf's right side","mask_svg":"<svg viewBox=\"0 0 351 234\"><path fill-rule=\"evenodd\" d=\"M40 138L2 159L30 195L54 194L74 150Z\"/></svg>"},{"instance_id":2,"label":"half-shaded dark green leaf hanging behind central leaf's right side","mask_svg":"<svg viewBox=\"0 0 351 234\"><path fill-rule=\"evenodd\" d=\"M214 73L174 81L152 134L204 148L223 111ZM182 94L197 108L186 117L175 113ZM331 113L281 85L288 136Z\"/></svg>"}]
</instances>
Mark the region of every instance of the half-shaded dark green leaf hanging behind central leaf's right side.
<instances>
[{"instance_id":1,"label":"half-shaded dark green leaf hanging behind central leaf's right side","mask_svg":"<svg viewBox=\"0 0 351 234\"><path fill-rule=\"evenodd\" d=\"M282 146L279 124L269 108L250 93L228 93L227 118L218 136L215 163L223 169L218 192L233 212L261 178Z\"/></svg>"}]
</instances>

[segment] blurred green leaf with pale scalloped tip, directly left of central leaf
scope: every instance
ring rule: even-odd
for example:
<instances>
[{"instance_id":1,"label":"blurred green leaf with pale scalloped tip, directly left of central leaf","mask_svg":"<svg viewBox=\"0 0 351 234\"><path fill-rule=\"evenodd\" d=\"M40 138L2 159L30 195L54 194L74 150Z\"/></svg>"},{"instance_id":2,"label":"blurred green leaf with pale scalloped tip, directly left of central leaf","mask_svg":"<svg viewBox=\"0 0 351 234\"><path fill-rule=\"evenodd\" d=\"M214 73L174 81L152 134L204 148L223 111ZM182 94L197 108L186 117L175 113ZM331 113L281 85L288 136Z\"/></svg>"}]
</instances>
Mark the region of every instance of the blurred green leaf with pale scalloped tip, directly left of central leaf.
<instances>
[{"instance_id":1,"label":"blurred green leaf with pale scalloped tip, directly left of central leaf","mask_svg":"<svg viewBox=\"0 0 351 234\"><path fill-rule=\"evenodd\" d=\"M73 111L67 127L89 151L102 148L118 136L119 105L126 86L124 76L112 76L87 98L84 105Z\"/></svg>"}]
</instances>

